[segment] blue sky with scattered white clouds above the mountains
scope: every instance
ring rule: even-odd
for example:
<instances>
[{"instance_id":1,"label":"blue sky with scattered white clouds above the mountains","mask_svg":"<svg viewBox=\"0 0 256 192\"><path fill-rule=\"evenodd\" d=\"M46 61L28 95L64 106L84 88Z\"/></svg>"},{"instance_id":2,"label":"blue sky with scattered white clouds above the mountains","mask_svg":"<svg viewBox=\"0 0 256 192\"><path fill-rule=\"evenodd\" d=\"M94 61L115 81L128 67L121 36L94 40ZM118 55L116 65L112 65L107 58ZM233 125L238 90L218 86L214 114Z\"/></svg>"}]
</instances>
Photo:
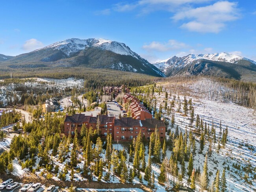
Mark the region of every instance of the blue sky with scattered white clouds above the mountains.
<instances>
[{"instance_id":1,"label":"blue sky with scattered white clouds above the mountains","mask_svg":"<svg viewBox=\"0 0 256 192\"><path fill-rule=\"evenodd\" d=\"M1 1L0 54L69 38L124 42L150 62L215 52L256 60L256 1Z\"/></svg>"}]
</instances>

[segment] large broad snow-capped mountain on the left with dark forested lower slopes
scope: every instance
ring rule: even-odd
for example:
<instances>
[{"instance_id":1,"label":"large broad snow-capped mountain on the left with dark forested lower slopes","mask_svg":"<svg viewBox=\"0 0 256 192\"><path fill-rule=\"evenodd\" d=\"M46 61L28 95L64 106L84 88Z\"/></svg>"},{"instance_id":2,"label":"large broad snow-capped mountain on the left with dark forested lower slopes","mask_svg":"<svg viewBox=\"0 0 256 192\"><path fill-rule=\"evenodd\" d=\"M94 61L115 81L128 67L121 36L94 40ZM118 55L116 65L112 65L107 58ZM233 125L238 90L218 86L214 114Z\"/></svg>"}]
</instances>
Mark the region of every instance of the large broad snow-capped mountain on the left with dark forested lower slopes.
<instances>
[{"instance_id":1,"label":"large broad snow-capped mountain on the left with dark forested lower slopes","mask_svg":"<svg viewBox=\"0 0 256 192\"><path fill-rule=\"evenodd\" d=\"M124 43L107 39L67 39L18 55L8 63L15 68L19 64L29 67L85 66L165 76Z\"/></svg>"}]
</instances>

